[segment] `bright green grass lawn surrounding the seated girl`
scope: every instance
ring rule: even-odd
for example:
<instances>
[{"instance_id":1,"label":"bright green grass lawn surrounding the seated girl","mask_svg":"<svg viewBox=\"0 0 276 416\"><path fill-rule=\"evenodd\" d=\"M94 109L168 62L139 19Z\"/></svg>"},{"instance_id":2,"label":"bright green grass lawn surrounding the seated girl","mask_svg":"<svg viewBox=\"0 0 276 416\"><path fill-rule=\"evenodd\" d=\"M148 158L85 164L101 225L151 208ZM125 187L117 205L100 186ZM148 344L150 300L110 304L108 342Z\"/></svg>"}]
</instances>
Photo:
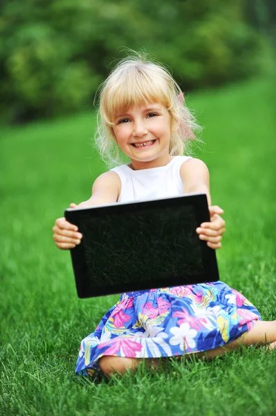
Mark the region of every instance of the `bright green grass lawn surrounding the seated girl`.
<instances>
[{"instance_id":1,"label":"bright green grass lawn surrounding the seated girl","mask_svg":"<svg viewBox=\"0 0 276 416\"><path fill-rule=\"evenodd\" d=\"M190 96L205 126L212 202L225 209L221 279L276 319L275 87L252 80ZM80 300L55 218L89 198L105 169L93 114L1 132L1 415L275 415L276 354L244 349L212 362L99 385L75 376L80 340L117 296Z\"/></svg>"}]
</instances>

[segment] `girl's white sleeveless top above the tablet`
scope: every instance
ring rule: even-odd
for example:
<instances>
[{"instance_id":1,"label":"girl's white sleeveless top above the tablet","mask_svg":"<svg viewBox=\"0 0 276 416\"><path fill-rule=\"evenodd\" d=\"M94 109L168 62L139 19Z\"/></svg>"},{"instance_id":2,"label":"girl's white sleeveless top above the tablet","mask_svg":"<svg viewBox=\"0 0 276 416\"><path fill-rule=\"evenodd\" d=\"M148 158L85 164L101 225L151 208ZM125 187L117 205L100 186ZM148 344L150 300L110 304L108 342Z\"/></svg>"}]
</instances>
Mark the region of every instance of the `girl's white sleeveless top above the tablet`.
<instances>
[{"instance_id":1,"label":"girl's white sleeveless top above the tablet","mask_svg":"<svg viewBox=\"0 0 276 416\"><path fill-rule=\"evenodd\" d=\"M111 169L120 176L122 189L118 202L154 200L182 195L180 167L190 156L175 156L166 166L134 171L121 165Z\"/></svg>"}]
</instances>

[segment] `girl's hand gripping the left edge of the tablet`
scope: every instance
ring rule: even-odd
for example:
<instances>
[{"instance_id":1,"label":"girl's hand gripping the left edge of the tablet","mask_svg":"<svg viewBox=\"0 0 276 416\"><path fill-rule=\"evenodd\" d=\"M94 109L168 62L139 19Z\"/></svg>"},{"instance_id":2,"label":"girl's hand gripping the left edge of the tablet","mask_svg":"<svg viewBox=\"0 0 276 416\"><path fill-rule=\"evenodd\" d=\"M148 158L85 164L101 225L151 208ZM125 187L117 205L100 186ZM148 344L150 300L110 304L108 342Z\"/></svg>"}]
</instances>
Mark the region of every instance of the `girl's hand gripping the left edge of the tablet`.
<instances>
[{"instance_id":1,"label":"girl's hand gripping the left edge of the tablet","mask_svg":"<svg viewBox=\"0 0 276 416\"><path fill-rule=\"evenodd\" d=\"M70 204L70 208L77 207L76 204ZM80 244L82 234L77 232L77 226L68 223L65 218L57 218L53 227L53 239L55 245L61 250L68 250Z\"/></svg>"}]
</instances>

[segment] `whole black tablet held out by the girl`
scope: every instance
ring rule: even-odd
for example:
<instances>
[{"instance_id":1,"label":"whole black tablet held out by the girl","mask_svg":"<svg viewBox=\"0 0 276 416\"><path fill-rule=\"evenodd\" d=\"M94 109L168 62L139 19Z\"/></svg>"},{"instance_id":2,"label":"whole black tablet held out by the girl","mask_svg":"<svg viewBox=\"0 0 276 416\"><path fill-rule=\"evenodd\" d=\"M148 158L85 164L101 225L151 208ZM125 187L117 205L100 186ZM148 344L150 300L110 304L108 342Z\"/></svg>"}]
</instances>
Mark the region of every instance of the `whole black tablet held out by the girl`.
<instances>
[{"instance_id":1,"label":"whole black tablet held out by the girl","mask_svg":"<svg viewBox=\"0 0 276 416\"><path fill-rule=\"evenodd\" d=\"M195 231L210 221L205 193L64 214L83 234L71 249L79 297L219 280L215 250Z\"/></svg>"}]
</instances>

